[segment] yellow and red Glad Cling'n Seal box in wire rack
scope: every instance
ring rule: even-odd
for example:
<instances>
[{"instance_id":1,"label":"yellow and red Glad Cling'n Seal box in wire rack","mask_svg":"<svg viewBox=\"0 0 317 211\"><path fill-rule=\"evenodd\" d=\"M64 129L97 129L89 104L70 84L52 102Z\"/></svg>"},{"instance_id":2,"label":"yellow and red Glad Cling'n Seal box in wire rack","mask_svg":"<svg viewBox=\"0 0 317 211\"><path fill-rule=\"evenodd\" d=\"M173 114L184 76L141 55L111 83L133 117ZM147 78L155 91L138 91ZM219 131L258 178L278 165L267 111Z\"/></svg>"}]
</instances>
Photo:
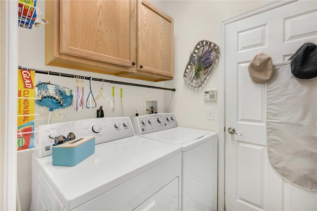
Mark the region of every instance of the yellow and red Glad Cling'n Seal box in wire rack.
<instances>
[{"instance_id":1,"label":"yellow and red Glad Cling'n Seal box in wire rack","mask_svg":"<svg viewBox=\"0 0 317 211\"><path fill-rule=\"evenodd\" d=\"M17 150L34 148L35 71L18 69Z\"/></svg>"}]
</instances>

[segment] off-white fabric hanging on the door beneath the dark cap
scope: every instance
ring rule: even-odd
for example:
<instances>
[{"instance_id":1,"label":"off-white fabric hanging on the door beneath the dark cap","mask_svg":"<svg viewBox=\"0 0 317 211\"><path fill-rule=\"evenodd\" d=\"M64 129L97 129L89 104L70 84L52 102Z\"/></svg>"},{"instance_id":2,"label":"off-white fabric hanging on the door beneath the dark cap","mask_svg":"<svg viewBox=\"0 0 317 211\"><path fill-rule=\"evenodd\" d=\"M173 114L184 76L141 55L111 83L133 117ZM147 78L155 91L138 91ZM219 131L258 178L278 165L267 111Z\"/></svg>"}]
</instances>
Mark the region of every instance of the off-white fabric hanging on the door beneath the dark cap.
<instances>
[{"instance_id":1,"label":"off-white fabric hanging on the door beneath the dark cap","mask_svg":"<svg viewBox=\"0 0 317 211\"><path fill-rule=\"evenodd\" d=\"M290 61L273 68L266 84L270 164L289 182L317 191L317 78L294 77Z\"/></svg>"}]
</instances>

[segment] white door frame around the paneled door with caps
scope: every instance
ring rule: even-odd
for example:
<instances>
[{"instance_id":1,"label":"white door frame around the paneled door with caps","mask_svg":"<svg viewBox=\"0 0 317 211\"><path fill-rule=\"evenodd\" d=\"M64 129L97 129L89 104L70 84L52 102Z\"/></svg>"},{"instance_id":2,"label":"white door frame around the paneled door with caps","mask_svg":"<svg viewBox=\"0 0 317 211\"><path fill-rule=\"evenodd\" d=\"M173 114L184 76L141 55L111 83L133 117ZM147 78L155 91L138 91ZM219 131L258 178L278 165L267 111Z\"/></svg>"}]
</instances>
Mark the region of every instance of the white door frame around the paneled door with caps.
<instances>
[{"instance_id":1,"label":"white door frame around the paneled door with caps","mask_svg":"<svg viewBox=\"0 0 317 211\"><path fill-rule=\"evenodd\" d=\"M263 6L254 8L247 12L238 14L236 16L230 17L228 19L221 21L221 46L220 49L225 49L226 43L226 25L239 21L244 18L251 17L253 15L260 14L262 12L274 9L279 6L291 3L296 0L287 1L273 1L267 3ZM225 55L224 51L221 53L221 58L219 62L219 88L218 88L218 115L219 115L219 133L218 133L218 211L225 210Z\"/></svg>"}]
</instances>

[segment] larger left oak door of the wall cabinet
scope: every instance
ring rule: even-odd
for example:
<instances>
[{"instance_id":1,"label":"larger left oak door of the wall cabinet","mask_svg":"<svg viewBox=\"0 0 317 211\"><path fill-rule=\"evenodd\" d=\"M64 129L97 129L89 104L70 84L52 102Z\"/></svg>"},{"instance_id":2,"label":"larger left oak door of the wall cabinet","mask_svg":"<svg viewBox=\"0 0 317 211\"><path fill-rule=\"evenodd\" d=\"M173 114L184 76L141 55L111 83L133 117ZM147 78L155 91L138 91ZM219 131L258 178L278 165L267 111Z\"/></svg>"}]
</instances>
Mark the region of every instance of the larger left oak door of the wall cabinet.
<instances>
[{"instance_id":1,"label":"larger left oak door of the wall cabinet","mask_svg":"<svg viewBox=\"0 0 317 211\"><path fill-rule=\"evenodd\" d=\"M60 53L132 66L135 10L134 0L61 0Z\"/></svg>"}]
</instances>

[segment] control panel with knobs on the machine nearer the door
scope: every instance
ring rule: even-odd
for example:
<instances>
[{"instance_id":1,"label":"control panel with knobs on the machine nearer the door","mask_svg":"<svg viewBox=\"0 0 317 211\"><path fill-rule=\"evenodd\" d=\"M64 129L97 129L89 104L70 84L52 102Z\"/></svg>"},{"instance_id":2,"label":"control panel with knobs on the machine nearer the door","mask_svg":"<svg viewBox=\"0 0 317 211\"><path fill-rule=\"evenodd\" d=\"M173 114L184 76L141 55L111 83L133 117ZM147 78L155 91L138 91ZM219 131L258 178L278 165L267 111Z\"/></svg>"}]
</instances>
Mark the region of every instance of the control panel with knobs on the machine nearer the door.
<instances>
[{"instance_id":1,"label":"control panel with knobs on the machine nearer the door","mask_svg":"<svg viewBox=\"0 0 317 211\"><path fill-rule=\"evenodd\" d=\"M154 113L132 119L135 134L143 135L178 127L173 113Z\"/></svg>"}]
</instances>

